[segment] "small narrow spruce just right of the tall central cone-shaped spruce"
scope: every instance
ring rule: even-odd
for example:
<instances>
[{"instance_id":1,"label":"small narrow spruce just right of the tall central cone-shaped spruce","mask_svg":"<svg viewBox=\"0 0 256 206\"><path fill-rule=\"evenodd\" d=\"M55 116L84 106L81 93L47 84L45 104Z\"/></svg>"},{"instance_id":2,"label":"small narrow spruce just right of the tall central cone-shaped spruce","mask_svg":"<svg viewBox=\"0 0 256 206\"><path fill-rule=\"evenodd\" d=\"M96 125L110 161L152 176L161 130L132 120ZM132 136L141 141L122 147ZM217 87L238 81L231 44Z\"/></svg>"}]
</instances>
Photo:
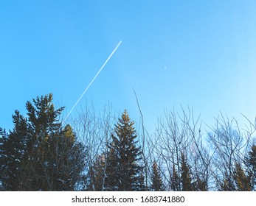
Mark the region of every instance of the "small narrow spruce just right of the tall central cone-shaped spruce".
<instances>
[{"instance_id":1,"label":"small narrow spruce just right of the tall central cone-shaped spruce","mask_svg":"<svg viewBox=\"0 0 256 206\"><path fill-rule=\"evenodd\" d=\"M151 174L151 191L164 191L162 176L157 166L156 160L153 161Z\"/></svg>"}]
</instances>

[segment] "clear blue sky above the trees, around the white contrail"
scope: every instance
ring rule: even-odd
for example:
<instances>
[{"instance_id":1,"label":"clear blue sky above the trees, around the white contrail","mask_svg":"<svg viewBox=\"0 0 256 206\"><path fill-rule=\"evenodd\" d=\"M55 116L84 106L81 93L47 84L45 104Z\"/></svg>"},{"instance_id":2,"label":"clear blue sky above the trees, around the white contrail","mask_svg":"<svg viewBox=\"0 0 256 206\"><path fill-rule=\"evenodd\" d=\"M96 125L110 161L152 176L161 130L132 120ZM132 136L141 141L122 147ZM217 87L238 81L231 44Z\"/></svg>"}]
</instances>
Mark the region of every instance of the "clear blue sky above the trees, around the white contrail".
<instances>
[{"instance_id":1,"label":"clear blue sky above the trees, around the white contrail","mask_svg":"<svg viewBox=\"0 0 256 206\"><path fill-rule=\"evenodd\" d=\"M0 127L47 93L69 113L120 40L81 105L139 120L134 88L150 131L180 105L210 125L220 111L254 121L255 11L254 0L0 0Z\"/></svg>"}]
</instances>

